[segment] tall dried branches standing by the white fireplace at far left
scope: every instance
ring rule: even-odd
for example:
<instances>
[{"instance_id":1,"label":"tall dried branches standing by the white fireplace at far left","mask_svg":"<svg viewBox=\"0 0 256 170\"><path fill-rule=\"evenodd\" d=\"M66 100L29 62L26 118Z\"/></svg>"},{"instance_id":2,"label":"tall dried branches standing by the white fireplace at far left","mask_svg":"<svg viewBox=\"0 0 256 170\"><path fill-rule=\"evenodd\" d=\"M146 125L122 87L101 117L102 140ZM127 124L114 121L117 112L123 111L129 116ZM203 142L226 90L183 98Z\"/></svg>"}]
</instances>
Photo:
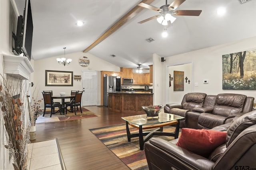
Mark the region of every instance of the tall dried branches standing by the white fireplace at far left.
<instances>
[{"instance_id":1,"label":"tall dried branches standing by the white fireplace at far left","mask_svg":"<svg viewBox=\"0 0 256 170\"><path fill-rule=\"evenodd\" d=\"M0 74L1 75L1 74ZM2 76L2 75L1 75ZM12 81L12 77L3 77L0 83L0 119L4 124L4 131L9 149L10 158L13 159L14 170L24 170L28 160L28 125L25 123L25 107L22 97L14 99L16 94L22 95L22 80Z\"/></svg>"}]
</instances>

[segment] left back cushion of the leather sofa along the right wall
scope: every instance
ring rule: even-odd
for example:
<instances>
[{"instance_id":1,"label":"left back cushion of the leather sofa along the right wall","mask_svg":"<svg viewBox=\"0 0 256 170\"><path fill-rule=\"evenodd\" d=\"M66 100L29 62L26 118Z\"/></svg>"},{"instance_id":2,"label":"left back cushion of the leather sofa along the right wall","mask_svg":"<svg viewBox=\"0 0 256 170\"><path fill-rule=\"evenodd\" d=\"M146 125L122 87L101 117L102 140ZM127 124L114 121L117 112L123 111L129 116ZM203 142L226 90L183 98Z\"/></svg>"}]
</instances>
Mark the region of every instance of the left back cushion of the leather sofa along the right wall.
<instances>
[{"instance_id":1,"label":"left back cushion of the leather sofa along the right wall","mask_svg":"<svg viewBox=\"0 0 256 170\"><path fill-rule=\"evenodd\" d=\"M192 109L194 107L202 107L205 96L206 96L205 93L186 94L186 102L182 104L183 109Z\"/></svg>"}]
</instances>

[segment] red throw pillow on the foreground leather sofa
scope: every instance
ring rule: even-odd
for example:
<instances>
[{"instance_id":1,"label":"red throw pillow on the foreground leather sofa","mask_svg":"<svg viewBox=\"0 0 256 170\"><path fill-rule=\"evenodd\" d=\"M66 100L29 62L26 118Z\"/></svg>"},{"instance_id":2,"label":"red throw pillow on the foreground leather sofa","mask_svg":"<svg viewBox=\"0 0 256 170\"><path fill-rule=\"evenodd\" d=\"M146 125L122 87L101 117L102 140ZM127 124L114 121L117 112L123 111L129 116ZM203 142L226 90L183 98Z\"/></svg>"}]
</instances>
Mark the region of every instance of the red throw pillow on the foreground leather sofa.
<instances>
[{"instance_id":1,"label":"red throw pillow on the foreground leather sofa","mask_svg":"<svg viewBox=\"0 0 256 170\"><path fill-rule=\"evenodd\" d=\"M226 141L227 132L182 128L177 146L208 157L210 153Z\"/></svg>"}]
</instances>

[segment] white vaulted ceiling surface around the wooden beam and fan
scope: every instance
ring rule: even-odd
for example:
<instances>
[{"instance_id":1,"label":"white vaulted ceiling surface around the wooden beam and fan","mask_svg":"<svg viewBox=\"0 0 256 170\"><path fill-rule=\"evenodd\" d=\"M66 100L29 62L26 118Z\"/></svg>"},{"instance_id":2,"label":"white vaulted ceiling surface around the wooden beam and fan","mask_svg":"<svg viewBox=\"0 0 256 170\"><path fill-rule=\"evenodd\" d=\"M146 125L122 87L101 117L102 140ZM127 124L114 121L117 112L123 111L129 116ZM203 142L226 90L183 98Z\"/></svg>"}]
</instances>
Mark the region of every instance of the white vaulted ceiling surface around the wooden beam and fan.
<instances>
[{"instance_id":1,"label":"white vaulted ceiling surface around the wooden beam and fan","mask_svg":"<svg viewBox=\"0 0 256 170\"><path fill-rule=\"evenodd\" d=\"M15 0L23 14L25 0ZM165 0L146 0L160 7ZM35 60L84 51L141 0L31 0L33 17L32 58ZM168 0L171 4L173 0ZM217 9L226 14L217 15ZM168 57L197 49L239 41L256 36L256 1L241 4L239 0L186 0L177 10L202 10L200 16L176 16L167 27L168 37L161 36L164 26L156 19L139 24L159 14L141 8L127 18L88 53L120 67L148 68L152 54ZM78 27L80 20L84 25ZM154 41L149 43L148 38ZM116 57L112 57L115 55ZM84 53L86 56L86 53Z\"/></svg>"}]
</instances>

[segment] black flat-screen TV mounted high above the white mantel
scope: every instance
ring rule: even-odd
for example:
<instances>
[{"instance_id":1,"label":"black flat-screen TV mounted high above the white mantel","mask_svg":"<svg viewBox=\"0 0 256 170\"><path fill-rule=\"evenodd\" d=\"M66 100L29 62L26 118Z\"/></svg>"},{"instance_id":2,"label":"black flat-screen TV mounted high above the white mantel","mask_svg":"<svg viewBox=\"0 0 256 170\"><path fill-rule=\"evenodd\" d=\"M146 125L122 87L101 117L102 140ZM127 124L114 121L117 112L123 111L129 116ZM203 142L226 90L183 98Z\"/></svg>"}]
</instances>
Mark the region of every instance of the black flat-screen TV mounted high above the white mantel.
<instances>
[{"instance_id":1,"label":"black flat-screen TV mounted high above the white mantel","mask_svg":"<svg viewBox=\"0 0 256 170\"><path fill-rule=\"evenodd\" d=\"M30 0L26 0L26 6L24 10L24 31L23 31L23 43L22 50L24 55L31 59L32 50L32 37L33 37L33 20L30 6Z\"/></svg>"}]
</instances>

